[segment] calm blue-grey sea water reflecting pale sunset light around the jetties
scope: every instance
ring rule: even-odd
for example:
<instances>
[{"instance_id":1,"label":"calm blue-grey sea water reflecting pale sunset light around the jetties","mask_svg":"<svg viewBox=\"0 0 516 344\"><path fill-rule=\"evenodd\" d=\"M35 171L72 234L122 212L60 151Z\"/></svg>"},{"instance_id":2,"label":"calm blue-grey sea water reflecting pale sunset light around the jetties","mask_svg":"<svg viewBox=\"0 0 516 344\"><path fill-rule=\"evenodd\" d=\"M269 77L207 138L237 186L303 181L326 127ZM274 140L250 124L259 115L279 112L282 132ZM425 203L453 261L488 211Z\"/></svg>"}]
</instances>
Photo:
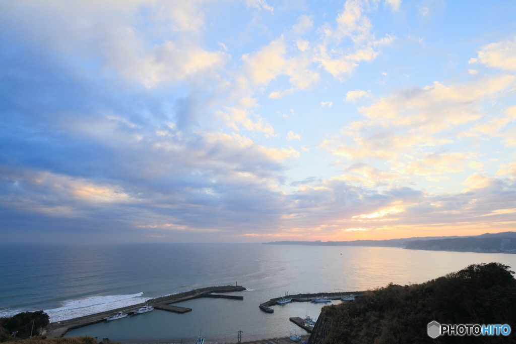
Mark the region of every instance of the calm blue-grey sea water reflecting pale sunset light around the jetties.
<instances>
[{"instance_id":1,"label":"calm blue-grey sea water reflecting pale sunset light around the jetties","mask_svg":"<svg viewBox=\"0 0 516 344\"><path fill-rule=\"evenodd\" d=\"M261 244L1 245L0 317L45 310L51 321L132 305L195 288L235 284L244 301L197 299L186 314L155 310L70 331L122 342L244 340L305 334L289 317L316 318L321 305L289 303L266 314L260 302L305 292L366 290L421 283L469 264L516 255L390 247ZM333 303L339 303L334 301Z\"/></svg>"}]
</instances>

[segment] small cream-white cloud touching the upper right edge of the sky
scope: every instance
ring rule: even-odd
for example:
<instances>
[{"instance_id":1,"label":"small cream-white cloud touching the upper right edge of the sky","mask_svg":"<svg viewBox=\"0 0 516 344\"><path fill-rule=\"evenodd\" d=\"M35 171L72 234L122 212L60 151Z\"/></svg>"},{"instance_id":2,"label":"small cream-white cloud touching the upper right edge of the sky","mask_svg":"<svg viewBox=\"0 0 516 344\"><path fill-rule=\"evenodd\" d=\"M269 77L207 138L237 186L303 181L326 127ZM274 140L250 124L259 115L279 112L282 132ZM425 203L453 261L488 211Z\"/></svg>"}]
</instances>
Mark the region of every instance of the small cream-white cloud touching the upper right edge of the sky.
<instances>
[{"instance_id":1,"label":"small cream-white cloud touching the upper right edge of the sky","mask_svg":"<svg viewBox=\"0 0 516 344\"><path fill-rule=\"evenodd\" d=\"M516 70L516 38L482 46L478 60L489 67Z\"/></svg>"}]
</instances>

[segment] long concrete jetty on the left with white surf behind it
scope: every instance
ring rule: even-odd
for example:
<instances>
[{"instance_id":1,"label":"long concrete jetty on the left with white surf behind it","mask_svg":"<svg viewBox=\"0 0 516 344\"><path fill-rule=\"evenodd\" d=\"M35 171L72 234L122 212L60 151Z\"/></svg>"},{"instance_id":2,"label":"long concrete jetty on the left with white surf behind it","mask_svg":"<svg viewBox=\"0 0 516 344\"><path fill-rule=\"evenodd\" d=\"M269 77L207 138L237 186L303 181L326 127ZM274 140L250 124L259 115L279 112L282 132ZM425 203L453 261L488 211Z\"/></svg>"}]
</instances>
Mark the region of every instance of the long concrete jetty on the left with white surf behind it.
<instances>
[{"instance_id":1,"label":"long concrete jetty on the left with white surf behind it","mask_svg":"<svg viewBox=\"0 0 516 344\"><path fill-rule=\"evenodd\" d=\"M68 319L58 322L52 322L45 329L45 336L47 338L58 338L62 337L69 330L78 329L79 327L92 325L102 321L106 321L106 317L116 315L118 312L124 312L126 314L133 314L133 310L137 310L143 306L153 306L156 309L167 310L176 313L186 313L191 311L191 308L173 306L171 304L179 303L187 300L197 298L224 298L233 300L244 300L243 296L238 295L221 295L214 293L228 293L234 291L244 291L246 288L241 286L219 286L219 287L207 287L200 289L193 289L178 294L166 295L160 298L150 299L147 302L131 305L127 307L107 310L104 312L87 315L84 317Z\"/></svg>"}]
</instances>

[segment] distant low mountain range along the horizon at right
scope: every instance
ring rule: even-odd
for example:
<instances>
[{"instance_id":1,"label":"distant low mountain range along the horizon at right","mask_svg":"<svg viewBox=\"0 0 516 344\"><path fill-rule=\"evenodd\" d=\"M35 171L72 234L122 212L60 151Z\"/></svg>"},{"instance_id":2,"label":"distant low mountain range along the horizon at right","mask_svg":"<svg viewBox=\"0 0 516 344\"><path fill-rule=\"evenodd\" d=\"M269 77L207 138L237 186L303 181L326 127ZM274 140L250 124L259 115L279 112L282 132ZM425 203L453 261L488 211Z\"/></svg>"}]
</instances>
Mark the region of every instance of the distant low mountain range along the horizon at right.
<instances>
[{"instance_id":1,"label":"distant low mountain range along the horizon at right","mask_svg":"<svg viewBox=\"0 0 516 344\"><path fill-rule=\"evenodd\" d=\"M465 237L413 237L390 240L353 241L274 241L263 245L310 245L310 246L381 246L427 249L432 251L516 253L516 232L485 233Z\"/></svg>"}]
</instances>

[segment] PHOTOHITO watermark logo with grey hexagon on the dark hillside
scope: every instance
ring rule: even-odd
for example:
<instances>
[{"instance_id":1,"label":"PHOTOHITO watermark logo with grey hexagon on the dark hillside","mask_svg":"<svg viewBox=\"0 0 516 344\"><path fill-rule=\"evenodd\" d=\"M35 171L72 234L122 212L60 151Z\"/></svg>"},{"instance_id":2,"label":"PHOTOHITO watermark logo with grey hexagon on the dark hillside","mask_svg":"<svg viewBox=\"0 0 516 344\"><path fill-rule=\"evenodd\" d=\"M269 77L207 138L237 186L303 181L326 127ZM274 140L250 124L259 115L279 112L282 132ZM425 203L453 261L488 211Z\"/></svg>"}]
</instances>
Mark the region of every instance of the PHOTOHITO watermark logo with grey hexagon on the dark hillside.
<instances>
[{"instance_id":1,"label":"PHOTOHITO watermark logo with grey hexagon on the dark hillside","mask_svg":"<svg viewBox=\"0 0 516 344\"><path fill-rule=\"evenodd\" d=\"M439 336L508 336L511 333L511 326L507 324L480 325L480 324L440 324L437 321L428 323L428 336L437 338Z\"/></svg>"}]
</instances>

